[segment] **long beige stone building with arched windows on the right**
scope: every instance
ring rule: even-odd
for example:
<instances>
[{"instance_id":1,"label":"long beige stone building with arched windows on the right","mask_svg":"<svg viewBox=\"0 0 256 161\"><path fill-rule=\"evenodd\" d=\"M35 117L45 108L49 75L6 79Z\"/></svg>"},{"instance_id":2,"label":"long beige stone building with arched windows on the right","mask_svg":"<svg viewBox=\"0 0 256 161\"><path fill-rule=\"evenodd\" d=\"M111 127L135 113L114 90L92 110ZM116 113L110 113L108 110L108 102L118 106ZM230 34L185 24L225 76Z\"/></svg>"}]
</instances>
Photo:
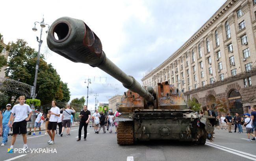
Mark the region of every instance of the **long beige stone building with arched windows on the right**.
<instances>
[{"instance_id":1,"label":"long beige stone building with arched windows on the right","mask_svg":"<svg viewBox=\"0 0 256 161\"><path fill-rule=\"evenodd\" d=\"M256 105L256 0L227 0L167 60L143 77L144 86L168 81L214 108L233 102L230 112ZM220 113L219 113L220 114Z\"/></svg>"}]
</instances>

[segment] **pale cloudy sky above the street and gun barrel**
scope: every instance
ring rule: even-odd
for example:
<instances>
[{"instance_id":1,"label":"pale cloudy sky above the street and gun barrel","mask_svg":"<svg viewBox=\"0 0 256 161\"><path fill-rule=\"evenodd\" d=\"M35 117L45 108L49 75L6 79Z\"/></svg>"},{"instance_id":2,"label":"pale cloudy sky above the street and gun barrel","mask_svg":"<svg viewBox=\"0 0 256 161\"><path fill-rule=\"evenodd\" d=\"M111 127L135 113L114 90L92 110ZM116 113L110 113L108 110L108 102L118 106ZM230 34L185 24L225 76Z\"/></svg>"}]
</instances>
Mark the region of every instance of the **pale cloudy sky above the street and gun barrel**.
<instances>
[{"instance_id":1,"label":"pale cloudy sky above the street and gun barrel","mask_svg":"<svg viewBox=\"0 0 256 161\"><path fill-rule=\"evenodd\" d=\"M83 20L100 38L106 56L128 75L141 83L143 75L159 66L184 44L218 9L225 0L44 0L1 2L0 33L4 43L24 39L38 50L36 37L40 25L69 16ZM87 96L88 108L122 94L127 89L113 77L87 64L74 63L50 51L43 29L41 53L52 63L63 82L68 83L71 97ZM40 65L39 65L40 68Z\"/></svg>"}]
</instances>

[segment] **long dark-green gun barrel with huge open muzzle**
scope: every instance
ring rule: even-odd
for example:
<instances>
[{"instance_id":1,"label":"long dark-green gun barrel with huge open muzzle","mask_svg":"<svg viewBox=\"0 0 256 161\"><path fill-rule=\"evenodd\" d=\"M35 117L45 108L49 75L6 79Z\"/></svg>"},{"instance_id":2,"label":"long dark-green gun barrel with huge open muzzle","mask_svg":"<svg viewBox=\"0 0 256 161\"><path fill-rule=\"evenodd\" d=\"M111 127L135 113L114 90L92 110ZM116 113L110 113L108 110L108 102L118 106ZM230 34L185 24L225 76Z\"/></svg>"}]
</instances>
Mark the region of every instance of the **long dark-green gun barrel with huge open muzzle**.
<instances>
[{"instance_id":1,"label":"long dark-green gun barrel with huge open muzzle","mask_svg":"<svg viewBox=\"0 0 256 161\"><path fill-rule=\"evenodd\" d=\"M50 26L47 34L49 49L73 61L98 67L147 101L154 97L132 76L128 76L106 57L97 35L82 21L70 17L58 18Z\"/></svg>"}]
</instances>

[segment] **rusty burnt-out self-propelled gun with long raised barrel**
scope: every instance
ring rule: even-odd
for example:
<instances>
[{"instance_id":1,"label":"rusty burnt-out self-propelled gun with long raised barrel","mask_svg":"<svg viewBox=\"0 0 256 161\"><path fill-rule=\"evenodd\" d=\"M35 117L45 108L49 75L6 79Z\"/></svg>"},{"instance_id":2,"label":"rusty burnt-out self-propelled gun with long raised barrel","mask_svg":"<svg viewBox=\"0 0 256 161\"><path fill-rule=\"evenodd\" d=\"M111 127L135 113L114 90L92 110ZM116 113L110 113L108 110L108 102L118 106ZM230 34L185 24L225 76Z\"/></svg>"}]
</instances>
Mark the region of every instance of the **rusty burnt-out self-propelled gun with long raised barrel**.
<instances>
[{"instance_id":1,"label":"rusty burnt-out self-propelled gun with long raised barrel","mask_svg":"<svg viewBox=\"0 0 256 161\"><path fill-rule=\"evenodd\" d=\"M133 145L136 141L176 140L204 145L213 138L215 117L201 116L187 106L184 94L168 82L143 87L126 75L102 50L97 35L82 21L70 17L57 19L47 35L48 47L71 60L98 67L128 89L122 96L115 121L117 143Z\"/></svg>"}]
</instances>

